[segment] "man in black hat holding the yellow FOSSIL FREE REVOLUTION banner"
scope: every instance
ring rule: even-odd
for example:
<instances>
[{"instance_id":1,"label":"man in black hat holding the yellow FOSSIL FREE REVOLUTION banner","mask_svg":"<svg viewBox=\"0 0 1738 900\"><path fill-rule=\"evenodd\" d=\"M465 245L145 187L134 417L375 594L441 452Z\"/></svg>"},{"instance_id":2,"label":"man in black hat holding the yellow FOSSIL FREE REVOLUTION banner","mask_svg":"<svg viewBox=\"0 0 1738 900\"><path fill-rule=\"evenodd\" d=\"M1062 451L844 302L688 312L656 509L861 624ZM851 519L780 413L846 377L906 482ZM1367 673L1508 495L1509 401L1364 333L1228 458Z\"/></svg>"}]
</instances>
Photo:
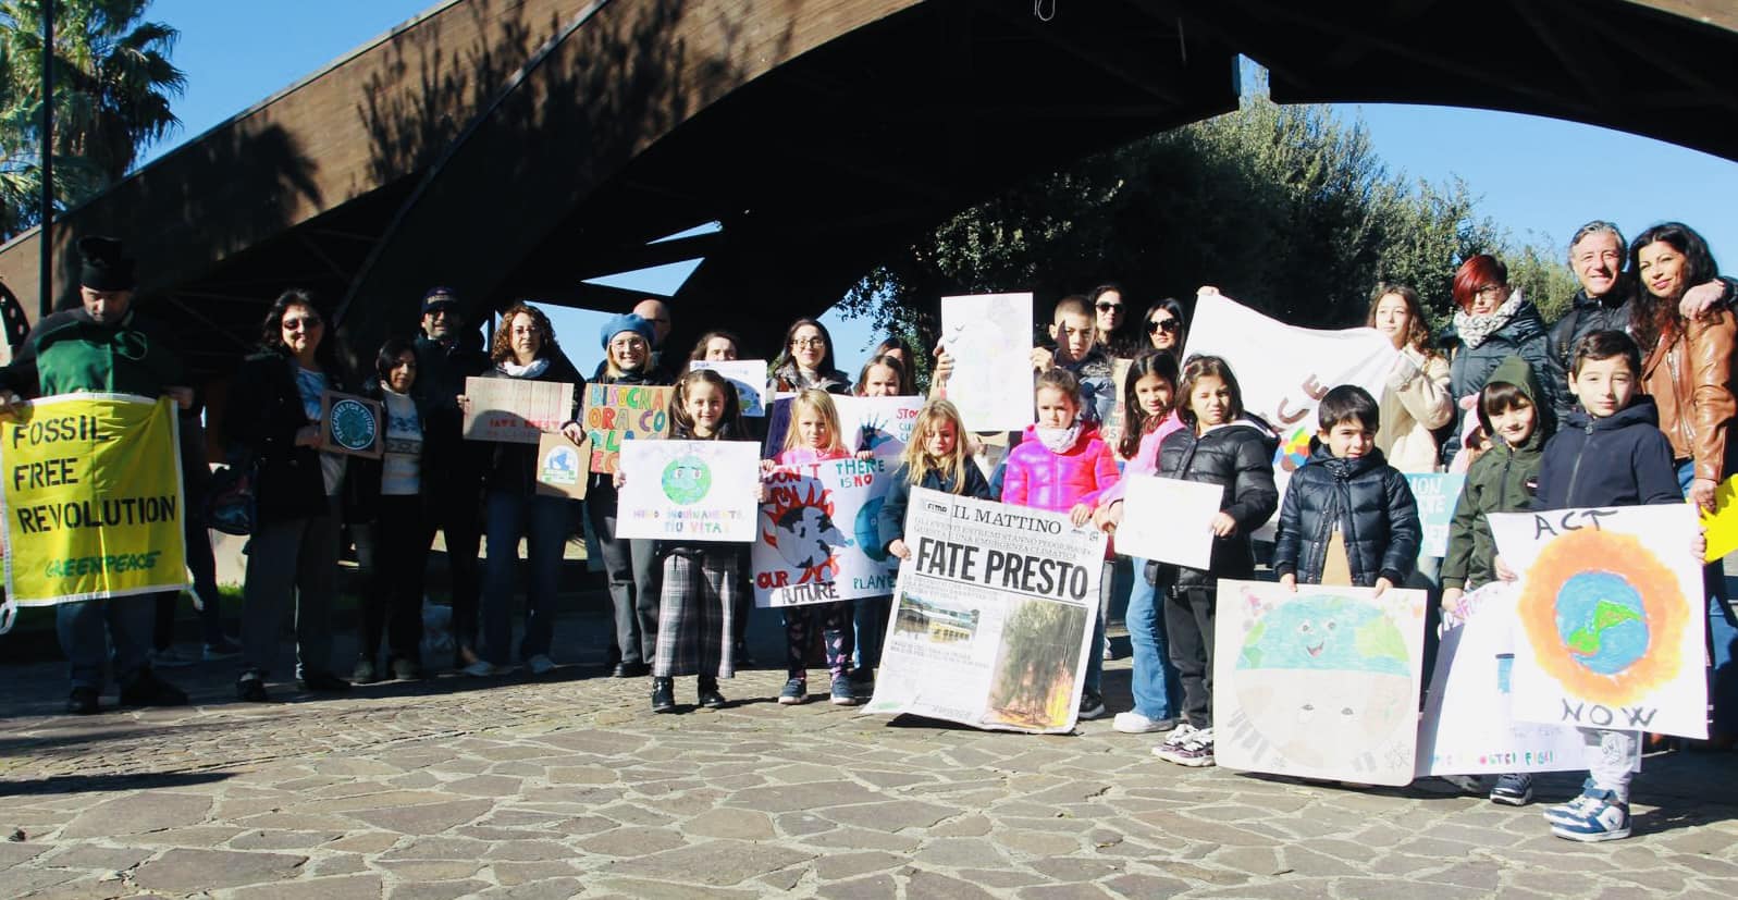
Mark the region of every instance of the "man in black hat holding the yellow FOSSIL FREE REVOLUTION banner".
<instances>
[{"instance_id":1,"label":"man in black hat holding the yellow FOSSIL FREE REVOLUTION banner","mask_svg":"<svg viewBox=\"0 0 1738 900\"><path fill-rule=\"evenodd\" d=\"M181 356L167 332L132 309L134 261L115 238L78 240L75 309L54 313L31 328L12 365L0 368L0 403L78 391L174 396L182 408ZM85 599L56 606L61 650L71 662L68 712L97 711L103 669L115 648L115 679L122 705L181 705L186 692L151 672L153 596Z\"/></svg>"}]
</instances>

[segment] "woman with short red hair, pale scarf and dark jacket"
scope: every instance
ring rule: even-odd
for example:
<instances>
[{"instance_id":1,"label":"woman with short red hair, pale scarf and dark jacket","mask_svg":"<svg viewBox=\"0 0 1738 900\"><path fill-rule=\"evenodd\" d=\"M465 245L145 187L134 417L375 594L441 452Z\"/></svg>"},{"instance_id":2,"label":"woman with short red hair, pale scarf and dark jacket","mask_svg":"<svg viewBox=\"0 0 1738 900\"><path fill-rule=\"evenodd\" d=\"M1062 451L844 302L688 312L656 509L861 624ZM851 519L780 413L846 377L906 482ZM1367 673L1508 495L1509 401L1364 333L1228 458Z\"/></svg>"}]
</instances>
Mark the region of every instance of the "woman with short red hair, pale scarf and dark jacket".
<instances>
[{"instance_id":1,"label":"woman with short red hair, pale scarf and dark jacket","mask_svg":"<svg viewBox=\"0 0 1738 900\"><path fill-rule=\"evenodd\" d=\"M1460 401L1455 433L1443 441L1443 462L1460 452L1469 398L1489 381L1496 363L1521 356L1540 381L1540 412L1562 408L1564 384L1550 360L1550 334L1538 308L1509 287L1509 266L1489 254L1467 259L1455 269L1455 337L1458 347L1448 367L1451 394Z\"/></svg>"}]
</instances>

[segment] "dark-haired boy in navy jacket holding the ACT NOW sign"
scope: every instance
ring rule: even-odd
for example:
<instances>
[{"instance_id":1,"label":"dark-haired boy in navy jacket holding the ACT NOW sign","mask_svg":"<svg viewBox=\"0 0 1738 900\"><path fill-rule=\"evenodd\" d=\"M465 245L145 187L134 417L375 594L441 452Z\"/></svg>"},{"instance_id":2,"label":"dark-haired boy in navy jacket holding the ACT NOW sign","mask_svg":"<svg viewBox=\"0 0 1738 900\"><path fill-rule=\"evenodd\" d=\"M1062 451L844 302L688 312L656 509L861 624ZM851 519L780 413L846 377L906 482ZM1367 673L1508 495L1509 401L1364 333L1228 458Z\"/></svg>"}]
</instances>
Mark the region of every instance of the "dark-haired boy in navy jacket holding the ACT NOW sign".
<instances>
[{"instance_id":1,"label":"dark-haired boy in navy jacket holding the ACT NOW sign","mask_svg":"<svg viewBox=\"0 0 1738 900\"><path fill-rule=\"evenodd\" d=\"M1533 509L1684 502L1660 414L1639 389L1641 347L1627 334L1592 332L1576 344L1569 391L1580 410L1545 443ZM1500 556L1496 575L1514 579ZM1641 735L1604 728L1582 728L1582 735L1587 782L1582 796L1545 810L1550 832L1571 841L1629 837L1630 759Z\"/></svg>"}]
</instances>

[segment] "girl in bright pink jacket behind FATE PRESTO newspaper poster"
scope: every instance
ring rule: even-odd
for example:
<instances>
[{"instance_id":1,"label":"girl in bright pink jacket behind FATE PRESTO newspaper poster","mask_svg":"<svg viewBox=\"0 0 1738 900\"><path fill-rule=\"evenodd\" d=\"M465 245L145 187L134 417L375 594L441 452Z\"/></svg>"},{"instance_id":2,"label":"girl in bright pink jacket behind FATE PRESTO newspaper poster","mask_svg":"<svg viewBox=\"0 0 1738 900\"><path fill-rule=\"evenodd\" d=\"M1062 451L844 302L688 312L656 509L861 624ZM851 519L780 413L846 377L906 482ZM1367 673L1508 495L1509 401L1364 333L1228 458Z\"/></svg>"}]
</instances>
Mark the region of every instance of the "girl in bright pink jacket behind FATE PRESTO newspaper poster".
<instances>
[{"instance_id":1,"label":"girl in bright pink jacket behind FATE PRESTO newspaper poster","mask_svg":"<svg viewBox=\"0 0 1738 900\"><path fill-rule=\"evenodd\" d=\"M1008 452L1001 502L1067 513L1074 525L1091 519L1098 497L1116 485L1116 453L1098 438L1098 429L1081 420L1079 381L1064 368L1038 375L1034 401L1038 424ZM1098 676L1104 669L1104 606L1111 591L1111 563L1098 580L1098 610L1086 655L1086 685L1081 690L1083 719L1104 716Z\"/></svg>"}]
</instances>

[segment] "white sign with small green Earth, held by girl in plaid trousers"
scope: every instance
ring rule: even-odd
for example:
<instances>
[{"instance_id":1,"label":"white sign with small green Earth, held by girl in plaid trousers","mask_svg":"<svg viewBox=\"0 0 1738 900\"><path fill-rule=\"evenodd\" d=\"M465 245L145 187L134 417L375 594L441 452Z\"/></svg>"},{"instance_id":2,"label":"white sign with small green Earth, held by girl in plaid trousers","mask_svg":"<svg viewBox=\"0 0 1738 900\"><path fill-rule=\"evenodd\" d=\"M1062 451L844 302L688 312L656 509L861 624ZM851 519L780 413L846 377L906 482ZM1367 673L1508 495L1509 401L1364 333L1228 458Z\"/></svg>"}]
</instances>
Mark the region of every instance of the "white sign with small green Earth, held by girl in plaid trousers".
<instances>
[{"instance_id":1,"label":"white sign with small green Earth, held by girl in plaid trousers","mask_svg":"<svg viewBox=\"0 0 1738 900\"><path fill-rule=\"evenodd\" d=\"M615 537L754 540L754 441L629 441Z\"/></svg>"}]
</instances>

